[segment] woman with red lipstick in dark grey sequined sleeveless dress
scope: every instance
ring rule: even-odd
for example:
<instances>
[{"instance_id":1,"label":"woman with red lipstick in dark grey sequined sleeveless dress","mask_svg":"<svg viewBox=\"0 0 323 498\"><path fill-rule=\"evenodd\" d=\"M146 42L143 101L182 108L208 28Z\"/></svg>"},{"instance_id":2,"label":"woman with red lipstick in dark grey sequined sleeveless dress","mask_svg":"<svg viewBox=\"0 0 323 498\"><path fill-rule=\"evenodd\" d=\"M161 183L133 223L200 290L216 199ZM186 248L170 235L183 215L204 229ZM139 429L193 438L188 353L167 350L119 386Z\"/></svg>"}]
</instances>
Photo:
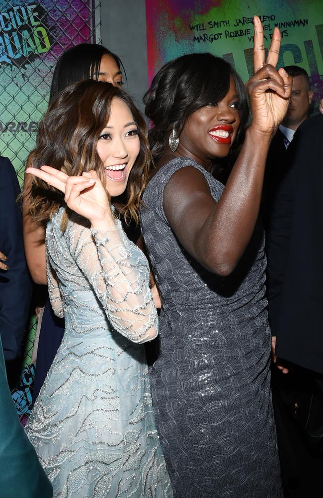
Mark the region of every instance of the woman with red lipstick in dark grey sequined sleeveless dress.
<instances>
[{"instance_id":1,"label":"woman with red lipstick in dark grey sequined sleeveless dress","mask_svg":"<svg viewBox=\"0 0 323 498\"><path fill-rule=\"evenodd\" d=\"M145 100L157 168L141 226L162 301L150 376L176 497L282 496L257 216L266 153L291 82L275 70L279 31L267 64L258 18L255 31L252 122L226 187L211 170L247 114L230 64L211 54L179 57L161 68Z\"/></svg>"}]
</instances>

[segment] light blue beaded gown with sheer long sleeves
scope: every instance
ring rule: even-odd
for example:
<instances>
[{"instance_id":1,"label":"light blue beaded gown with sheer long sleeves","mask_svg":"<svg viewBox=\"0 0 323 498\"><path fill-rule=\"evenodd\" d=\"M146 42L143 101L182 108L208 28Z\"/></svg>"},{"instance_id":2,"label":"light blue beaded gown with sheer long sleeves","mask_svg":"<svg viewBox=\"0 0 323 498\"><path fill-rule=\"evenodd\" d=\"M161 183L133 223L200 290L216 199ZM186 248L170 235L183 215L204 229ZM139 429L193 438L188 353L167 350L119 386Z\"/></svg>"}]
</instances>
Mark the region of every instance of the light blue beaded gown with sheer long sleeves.
<instances>
[{"instance_id":1,"label":"light blue beaded gown with sheer long sleeves","mask_svg":"<svg viewBox=\"0 0 323 498\"><path fill-rule=\"evenodd\" d=\"M147 259L120 221L95 232L74 215L62 233L63 211L47 225L46 251L65 334L27 435L54 497L172 497L139 344L158 330Z\"/></svg>"}]
</instances>

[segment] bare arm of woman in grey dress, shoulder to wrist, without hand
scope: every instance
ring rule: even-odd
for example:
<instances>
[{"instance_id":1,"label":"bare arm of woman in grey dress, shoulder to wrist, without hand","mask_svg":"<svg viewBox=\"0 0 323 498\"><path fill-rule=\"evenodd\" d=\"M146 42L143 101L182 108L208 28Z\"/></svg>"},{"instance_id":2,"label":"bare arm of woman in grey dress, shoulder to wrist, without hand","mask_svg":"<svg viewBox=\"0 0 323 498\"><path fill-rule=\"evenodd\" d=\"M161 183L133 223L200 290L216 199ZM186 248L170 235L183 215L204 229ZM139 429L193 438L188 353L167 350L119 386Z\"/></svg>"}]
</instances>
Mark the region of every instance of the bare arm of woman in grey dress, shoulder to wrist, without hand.
<instances>
[{"instance_id":1,"label":"bare arm of woman in grey dress, shoulder to wrist, without hand","mask_svg":"<svg viewBox=\"0 0 323 498\"><path fill-rule=\"evenodd\" d=\"M164 211L182 246L206 269L223 276L239 262L259 211L269 141L256 144L250 134L247 130L218 203L194 167L177 170L164 190Z\"/></svg>"}]
</instances>

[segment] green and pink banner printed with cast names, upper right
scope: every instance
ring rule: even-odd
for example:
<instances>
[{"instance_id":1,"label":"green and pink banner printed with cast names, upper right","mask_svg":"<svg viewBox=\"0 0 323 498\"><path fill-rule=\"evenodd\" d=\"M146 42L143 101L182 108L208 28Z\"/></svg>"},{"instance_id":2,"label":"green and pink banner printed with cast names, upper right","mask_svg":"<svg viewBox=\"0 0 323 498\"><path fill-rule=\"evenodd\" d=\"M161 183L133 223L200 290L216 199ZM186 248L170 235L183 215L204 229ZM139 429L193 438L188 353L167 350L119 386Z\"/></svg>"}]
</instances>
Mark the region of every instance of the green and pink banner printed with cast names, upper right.
<instances>
[{"instance_id":1,"label":"green and pink banner printed with cast names, upper right","mask_svg":"<svg viewBox=\"0 0 323 498\"><path fill-rule=\"evenodd\" d=\"M252 75L252 16L259 15L269 48L275 26L282 33L279 67L304 68L323 98L322 0L146 0L149 83L163 64L191 52L227 59L247 81Z\"/></svg>"}]
</instances>

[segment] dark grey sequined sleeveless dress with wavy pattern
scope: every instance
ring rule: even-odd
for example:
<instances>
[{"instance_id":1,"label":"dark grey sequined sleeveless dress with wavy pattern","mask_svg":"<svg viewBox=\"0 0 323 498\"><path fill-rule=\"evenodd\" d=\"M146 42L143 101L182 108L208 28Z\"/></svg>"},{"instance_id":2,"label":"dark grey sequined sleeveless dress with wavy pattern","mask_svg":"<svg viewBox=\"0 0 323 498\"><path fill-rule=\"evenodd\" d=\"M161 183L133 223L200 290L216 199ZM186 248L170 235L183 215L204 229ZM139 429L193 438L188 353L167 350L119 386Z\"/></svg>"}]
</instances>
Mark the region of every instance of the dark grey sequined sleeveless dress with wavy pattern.
<instances>
[{"instance_id":1,"label":"dark grey sequined sleeveless dress with wavy pattern","mask_svg":"<svg viewBox=\"0 0 323 498\"><path fill-rule=\"evenodd\" d=\"M153 406L174 496L281 497L270 394L270 329L264 236L257 226L229 277L208 272L180 245L163 211L163 190L188 158L155 174L141 226L161 292L159 357L150 368Z\"/></svg>"}]
</instances>

